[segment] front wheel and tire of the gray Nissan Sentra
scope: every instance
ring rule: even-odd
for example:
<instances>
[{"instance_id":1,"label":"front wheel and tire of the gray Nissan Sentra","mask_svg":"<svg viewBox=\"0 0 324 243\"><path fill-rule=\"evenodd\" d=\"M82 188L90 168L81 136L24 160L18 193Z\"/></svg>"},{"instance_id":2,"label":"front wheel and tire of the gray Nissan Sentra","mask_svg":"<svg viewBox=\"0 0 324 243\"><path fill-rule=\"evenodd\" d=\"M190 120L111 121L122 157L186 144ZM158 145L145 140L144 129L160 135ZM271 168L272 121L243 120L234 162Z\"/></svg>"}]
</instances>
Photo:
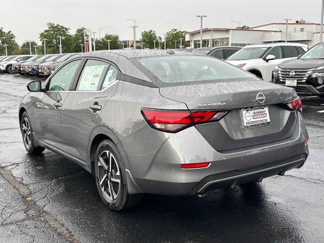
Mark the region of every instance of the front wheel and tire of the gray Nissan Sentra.
<instances>
[{"instance_id":1,"label":"front wheel and tire of the gray Nissan Sentra","mask_svg":"<svg viewBox=\"0 0 324 243\"><path fill-rule=\"evenodd\" d=\"M22 113L21 115L20 130L21 130L25 149L28 153L39 154L45 150L44 147L35 146L34 144L34 135L33 135L33 131L32 131L32 127L30 124L30 119L27 111L24 111L24 113Z\"/></svg>"}]
</instances>

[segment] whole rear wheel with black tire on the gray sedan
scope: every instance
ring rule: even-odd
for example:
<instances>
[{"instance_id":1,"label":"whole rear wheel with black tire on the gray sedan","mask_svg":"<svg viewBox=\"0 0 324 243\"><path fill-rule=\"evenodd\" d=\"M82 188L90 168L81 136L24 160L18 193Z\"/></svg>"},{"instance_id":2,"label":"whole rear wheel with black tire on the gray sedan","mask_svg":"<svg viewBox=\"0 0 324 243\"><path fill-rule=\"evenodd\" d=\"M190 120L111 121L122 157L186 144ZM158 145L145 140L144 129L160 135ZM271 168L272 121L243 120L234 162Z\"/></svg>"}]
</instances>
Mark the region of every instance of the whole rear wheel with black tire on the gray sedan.
<instances>
[{"instance_id":1,"label":"whole rear wheel with black tire on the gray sedan","mask_svg":"<svg viewBox=\"0 0 324 243\"><path fill-rule=\"evenodd\" d=\"M101 199L109 209L114 211L135 207L142 199L142 194L128 193L125 170L117 146L108 139L103 140L95 153L95 179Z\"/></svg>"}]
</instances>

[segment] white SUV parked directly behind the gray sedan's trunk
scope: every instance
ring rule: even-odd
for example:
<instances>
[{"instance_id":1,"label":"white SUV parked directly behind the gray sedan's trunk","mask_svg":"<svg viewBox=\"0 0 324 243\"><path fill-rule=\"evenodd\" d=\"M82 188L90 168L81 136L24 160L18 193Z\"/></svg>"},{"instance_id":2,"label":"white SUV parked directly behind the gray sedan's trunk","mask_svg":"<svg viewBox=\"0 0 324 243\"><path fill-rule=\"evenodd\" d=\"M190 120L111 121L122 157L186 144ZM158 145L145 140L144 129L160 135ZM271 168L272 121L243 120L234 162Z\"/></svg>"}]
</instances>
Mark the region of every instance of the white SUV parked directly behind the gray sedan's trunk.
<instances>
[{"instance_id":1,"label":"white SUV parked directly behind the gray sedan's trunk","mask_svg":"<svg viewBox=\"0 0 324 243\"><path fill-rule=\"evenodd\" d=\"M306 51L307 45L299 43L255 44L243 47L227 58L226 62L270 81L272 70L277 64L297 58Z\"/></svg>"}]
</instances>

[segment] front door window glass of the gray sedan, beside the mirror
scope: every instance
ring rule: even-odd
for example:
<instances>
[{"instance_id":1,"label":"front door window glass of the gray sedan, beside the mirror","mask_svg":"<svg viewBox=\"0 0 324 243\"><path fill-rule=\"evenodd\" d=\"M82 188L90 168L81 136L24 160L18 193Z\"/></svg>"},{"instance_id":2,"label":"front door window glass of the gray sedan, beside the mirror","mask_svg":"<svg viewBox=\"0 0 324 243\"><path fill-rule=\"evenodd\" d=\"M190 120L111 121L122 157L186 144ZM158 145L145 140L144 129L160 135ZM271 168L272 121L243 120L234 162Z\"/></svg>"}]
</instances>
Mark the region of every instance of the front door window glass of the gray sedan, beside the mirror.
<instances>
[{"instance_id":1,"label":"front door window glass of the gray sedan, beside the mirror","mask_svg":"<svg viewBox=\"0 0 324 243\"><path fill-rule=\"evenodd\" d=\"M55 75L51 78L49 84L50 91L66 91L69 90L70 84L74 73L79 66L81 60L75 60L66 64L60 70L58 70Z\"/></svg>"}]
</instances>

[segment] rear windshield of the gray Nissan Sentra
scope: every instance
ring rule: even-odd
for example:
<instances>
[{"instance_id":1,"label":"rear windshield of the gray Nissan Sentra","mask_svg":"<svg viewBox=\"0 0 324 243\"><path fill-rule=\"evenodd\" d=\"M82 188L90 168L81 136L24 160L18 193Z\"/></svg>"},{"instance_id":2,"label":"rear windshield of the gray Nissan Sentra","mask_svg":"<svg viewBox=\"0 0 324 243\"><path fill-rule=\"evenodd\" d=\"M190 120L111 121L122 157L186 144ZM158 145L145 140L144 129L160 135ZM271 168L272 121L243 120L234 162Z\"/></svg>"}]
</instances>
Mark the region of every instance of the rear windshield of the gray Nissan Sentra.
<instances>
[{"instance_id":1,"label":"rear windshield of the gray Nissan Sentra","mask_svg":"<svg viewBox=\"0 0 324 243\"><path fill-rule=\"evenodd\" d=\"M254 77L240 68L208 56L149 57L138 59L138 62L163 83Z\"/></svg>"}]
</instances>

